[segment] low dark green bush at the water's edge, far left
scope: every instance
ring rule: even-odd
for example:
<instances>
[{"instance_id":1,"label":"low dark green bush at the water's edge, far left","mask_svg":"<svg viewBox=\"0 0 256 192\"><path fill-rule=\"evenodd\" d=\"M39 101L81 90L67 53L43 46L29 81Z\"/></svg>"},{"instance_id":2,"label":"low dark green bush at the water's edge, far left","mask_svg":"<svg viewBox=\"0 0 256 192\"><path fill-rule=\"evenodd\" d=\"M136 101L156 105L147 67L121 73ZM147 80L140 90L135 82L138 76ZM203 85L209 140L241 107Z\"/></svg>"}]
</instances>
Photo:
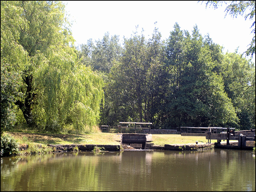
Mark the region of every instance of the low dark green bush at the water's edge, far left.
<instances>
[{"instance_id":1,"label":"low dark green bush at the water's edge, far left","mask_svg":"<svg viewBox=\"0 0 256 192\"><path fill-rule=\"evenodd\" d=\"M1 135L1 156L19 154L19 144L8 134Z\"/></svg>"}]
</instances>

